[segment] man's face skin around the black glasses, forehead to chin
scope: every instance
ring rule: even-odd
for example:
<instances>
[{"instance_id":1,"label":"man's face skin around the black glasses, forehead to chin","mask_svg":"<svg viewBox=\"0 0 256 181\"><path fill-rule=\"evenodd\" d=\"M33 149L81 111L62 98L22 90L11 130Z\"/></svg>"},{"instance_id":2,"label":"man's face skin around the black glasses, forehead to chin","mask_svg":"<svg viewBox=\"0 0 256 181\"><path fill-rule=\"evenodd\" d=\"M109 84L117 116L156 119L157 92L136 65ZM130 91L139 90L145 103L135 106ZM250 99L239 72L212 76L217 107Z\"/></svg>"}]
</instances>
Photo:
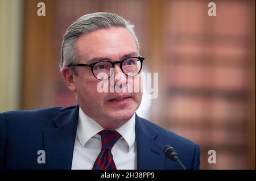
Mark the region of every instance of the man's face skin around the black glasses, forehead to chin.
<instances>
[{"instance_id":1,"label":"man's face skin around the black glasses, forehead to chin","mask_svg":"<svg viewBox=\"0 0 256 181\"><path fill-rule=\"evenodd\" d=\"M77 40L79 64L92 64L97 60L120 61L125 57L138 56L133 36L126 28L112 27L82 35ZM96 79L90 67L77 67L73 76L77 102L86 115L96 120L102 127L115 129L125 124L139 107L142 92L98 92ZM119 64L115 64L114 82L128 85L127 76ZM134 77L139 81L139 76ZM109 83L109 79L105 83ZM141 83L141 82L139 82ZM130 83L133 87L133 83Z\"/></svg>"}]
</instances>

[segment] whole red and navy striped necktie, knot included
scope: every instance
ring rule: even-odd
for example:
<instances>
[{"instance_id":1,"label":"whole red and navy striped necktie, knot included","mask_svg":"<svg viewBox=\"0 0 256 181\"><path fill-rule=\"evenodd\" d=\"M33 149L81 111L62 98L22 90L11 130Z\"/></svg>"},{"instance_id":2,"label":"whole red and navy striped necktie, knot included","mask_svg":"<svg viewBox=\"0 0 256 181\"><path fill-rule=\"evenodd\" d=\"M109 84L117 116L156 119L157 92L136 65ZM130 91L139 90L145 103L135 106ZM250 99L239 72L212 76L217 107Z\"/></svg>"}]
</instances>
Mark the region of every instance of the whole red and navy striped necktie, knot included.
<instances>
[{"instance_id":1,"label":"whole red and navy striped necktie, knot included","mask_svg":"<svg viewBox=\"0 0 256 181\"><path fill-rule=\"evenodd\" d=\"M117 131L109 130L102 130L98 134L101 136L101 153L98 155L93 165L93 170L117 170L111 149L119 140L121 134Z\"/></svg>"}]
</instances>

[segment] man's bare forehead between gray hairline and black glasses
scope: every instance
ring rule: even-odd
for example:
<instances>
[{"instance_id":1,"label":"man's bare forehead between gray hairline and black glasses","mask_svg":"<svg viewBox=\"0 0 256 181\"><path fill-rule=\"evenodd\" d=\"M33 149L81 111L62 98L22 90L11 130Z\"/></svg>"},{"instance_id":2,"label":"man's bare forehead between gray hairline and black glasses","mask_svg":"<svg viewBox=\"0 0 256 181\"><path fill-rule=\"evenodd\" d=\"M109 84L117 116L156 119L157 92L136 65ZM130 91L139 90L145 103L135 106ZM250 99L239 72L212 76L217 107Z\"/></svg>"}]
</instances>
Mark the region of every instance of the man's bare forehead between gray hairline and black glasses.
<instances>
[{"instance_id":1,"label":"man's bare forehead between gray hairline and black glasses","mask_svg":"<svg viewBox=\"0 0 256 181\"><path fill-rule=\"evenodd\" d=\"M82 35L77 41L79 59L86 63L95 60L112 60L137 56L137 46L133 36L122 27L97 30Z\"/></svg>"}]
</instances>

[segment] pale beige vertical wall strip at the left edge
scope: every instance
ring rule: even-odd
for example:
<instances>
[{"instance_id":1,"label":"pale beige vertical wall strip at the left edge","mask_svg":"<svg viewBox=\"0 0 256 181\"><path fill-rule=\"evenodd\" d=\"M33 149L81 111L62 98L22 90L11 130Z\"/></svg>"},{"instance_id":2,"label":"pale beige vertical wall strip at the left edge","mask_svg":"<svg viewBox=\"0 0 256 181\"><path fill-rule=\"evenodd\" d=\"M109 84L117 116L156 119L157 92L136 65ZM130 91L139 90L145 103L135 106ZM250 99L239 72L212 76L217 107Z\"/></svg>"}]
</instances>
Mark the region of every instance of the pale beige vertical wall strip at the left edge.
<instances>
[{"instance_id":1,"label":"pale beige vertical wall strip at the left edge","mask_svg":"<svg viewBox=\"0 0 256 181\"><path fill-rule=\"evenodd\" d=\"M19 109L22 1L0 0L0 112Z\"/></svg>"}]
</instances>

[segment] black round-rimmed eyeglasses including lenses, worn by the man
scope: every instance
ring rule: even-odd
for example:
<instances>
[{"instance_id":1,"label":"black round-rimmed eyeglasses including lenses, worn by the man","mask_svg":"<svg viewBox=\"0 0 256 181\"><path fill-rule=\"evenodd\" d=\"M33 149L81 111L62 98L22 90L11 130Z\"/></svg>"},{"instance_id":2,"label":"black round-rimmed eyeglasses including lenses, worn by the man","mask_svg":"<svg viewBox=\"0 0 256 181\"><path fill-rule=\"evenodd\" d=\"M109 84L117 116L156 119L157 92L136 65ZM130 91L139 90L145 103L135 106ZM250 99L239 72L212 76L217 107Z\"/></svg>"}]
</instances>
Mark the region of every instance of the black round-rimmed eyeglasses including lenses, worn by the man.
<instances>
[{"instance_id":1,"label":"black round-rimmed eyeglasses including lenses, worn by the man","mask_svg":"<svg viewBox=\"0 0 256 181\"><path fill-rule=\"evenodd\" d=\"M108 79L114 73L114 65L120 64L122 72L130 77L138 75L142 69L144 57L129 57L122 61L98 61L93 64L69 64L69 66L90 66L94 77L99 80ZM108 78L106 78L108 77Z\"/></svg>"}]
</instances>

